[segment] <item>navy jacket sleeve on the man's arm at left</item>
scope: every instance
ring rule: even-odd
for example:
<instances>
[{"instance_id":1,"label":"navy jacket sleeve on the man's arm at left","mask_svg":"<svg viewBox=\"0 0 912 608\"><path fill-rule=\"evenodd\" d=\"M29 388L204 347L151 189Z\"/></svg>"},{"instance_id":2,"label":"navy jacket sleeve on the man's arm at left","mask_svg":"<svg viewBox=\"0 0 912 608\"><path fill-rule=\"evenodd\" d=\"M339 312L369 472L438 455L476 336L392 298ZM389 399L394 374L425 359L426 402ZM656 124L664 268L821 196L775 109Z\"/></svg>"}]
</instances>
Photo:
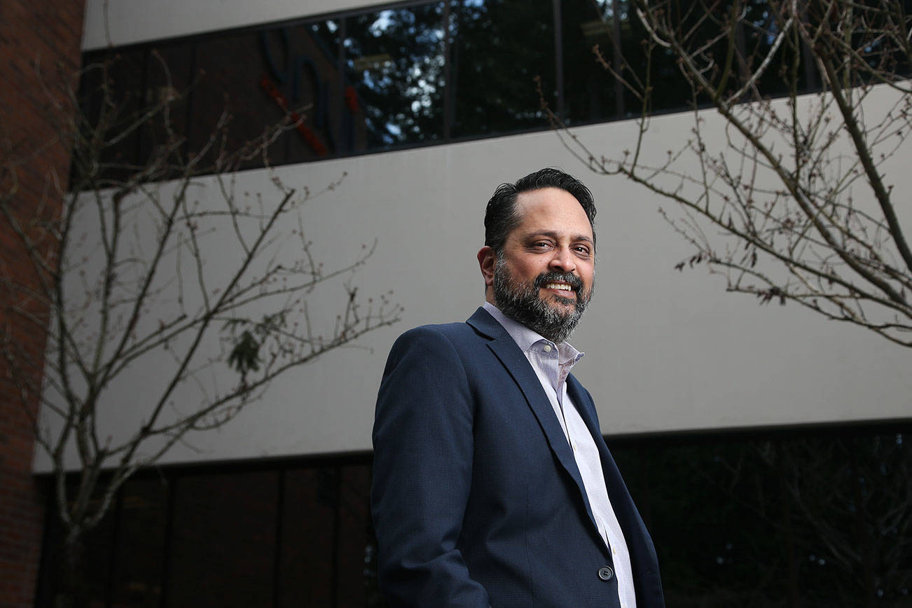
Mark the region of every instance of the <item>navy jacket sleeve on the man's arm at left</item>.
<instances>
[{"instance_id":1,"label":"navy jacket sleeve on the man's arm at left","mask_svg":"<svg viewBox=\"0 0 912 608\"><path fill-rule=\"evenodd\" d=\"M381 591L394 606L489 605L457 548L472 485L472 391L450 340L399 337L374 422L371 510Z\"/></svg>"}]
</instances>

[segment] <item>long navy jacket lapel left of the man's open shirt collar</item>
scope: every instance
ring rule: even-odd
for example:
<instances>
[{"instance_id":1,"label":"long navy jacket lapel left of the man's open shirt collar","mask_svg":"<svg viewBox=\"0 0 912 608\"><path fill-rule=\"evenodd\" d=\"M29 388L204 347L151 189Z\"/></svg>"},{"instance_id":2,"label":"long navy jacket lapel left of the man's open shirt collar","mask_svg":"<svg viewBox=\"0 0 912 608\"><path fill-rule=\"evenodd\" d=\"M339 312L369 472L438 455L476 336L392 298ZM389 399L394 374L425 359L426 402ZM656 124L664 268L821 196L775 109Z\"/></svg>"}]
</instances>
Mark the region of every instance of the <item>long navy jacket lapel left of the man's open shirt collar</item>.
<instances>
[{"instance_id":1,"label":"long navy jacket lapel left of the man's open shirt collar","mask_svg":"<svg viewBox=\"0 0 912 608\"><path fill-rule=\"evenodd\" d=\"M583 485L583 478L576 467L573 450L570 448L570 444L567 443L564 431L554 415L554 407L548 401L548 396L544 393L542 383L539 381L538 376L535 375L529 360L525 358L523 351L513 341L513 337L503 329L503 325L498 323L483 308L475 311L475 314L472 314L467 323L491 338L488 347L492 350L494 356L497 356L510 376L513 377L513 381L520 387L520 390L523 391L526 403L528 403L537 418L538 424L544 432L544 437L548 440L548 445L554 452L558 462L561 463L561 466L575 481L576 487L586 503L586 512L589 514L589 519L595 525L596 519L592 514L592 508L589 506L586 487ZM586 420L586 425L588 424L589 422Z\"/></svg>"}]
</instances>

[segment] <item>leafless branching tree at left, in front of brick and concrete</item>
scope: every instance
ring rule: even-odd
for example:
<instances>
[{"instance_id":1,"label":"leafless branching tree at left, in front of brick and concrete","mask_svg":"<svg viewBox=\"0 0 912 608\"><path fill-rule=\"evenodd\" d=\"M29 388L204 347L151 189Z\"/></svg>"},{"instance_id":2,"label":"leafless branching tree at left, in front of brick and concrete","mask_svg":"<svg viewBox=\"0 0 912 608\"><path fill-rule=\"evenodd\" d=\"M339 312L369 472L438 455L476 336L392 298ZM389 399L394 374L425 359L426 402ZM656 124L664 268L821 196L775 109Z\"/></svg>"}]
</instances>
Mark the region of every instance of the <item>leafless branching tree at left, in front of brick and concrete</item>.
<instances>
[{"instance_id":1,"label":"leafless branching tree at left, in front of brick and concrete","mask_svg":"<svg viewBox=\"0 0 912 608\"><path fill-rule=\"evenodd\" d=\"M167 66L156 58L165 89L173 91ZM98 524L137 469L188 434L226 424L264 397L278 376L355 345L398 321L401 311L385 294L365 301L353 283L376 242L324 269L305 238L305 227L314 229L303 204L337 189L344 176L312 192L285 185L274 172L271 191L257 193L254 204L235 191L237 168L254 158L268 167L269 146L294 121L286 117L233 150L231 119L223 113L199 149L188 151L171 121L181 94L129 112L110 68L83 70L99 82L95 116L80 108L75 88L57 95L67 102L59 114L70 117L59 122L56 137L73 150L68 193L51 176L47 206L23 209L17 174L41 149L29 156L4 150L0 157L0 221L16 236L32 274L23 281L11 261L0 263L4 318L47 345L36 359L17 348L15 327L6 325L0 356L24 406L29 396L41 401L42 417L30 422L36 445L53 463L68 546ZM301 120L300 108L289 116ZM114 158L119 144L148 129L161 140L143 162ZM62 201L57 212L55 199ZM283 247L289 240L295 253ZM332 281L344 298L326 304L337 315L319 330L306 297ZM167 358L171 366L155 363ZM157 366L158 383L153 395L130 404L140 422L105 434L100 410L110 407L117 383L144 366ZM179 391L181 407L175 407ZM67 472L74 465L75 486Z\"/></svg>"}]
</instances>

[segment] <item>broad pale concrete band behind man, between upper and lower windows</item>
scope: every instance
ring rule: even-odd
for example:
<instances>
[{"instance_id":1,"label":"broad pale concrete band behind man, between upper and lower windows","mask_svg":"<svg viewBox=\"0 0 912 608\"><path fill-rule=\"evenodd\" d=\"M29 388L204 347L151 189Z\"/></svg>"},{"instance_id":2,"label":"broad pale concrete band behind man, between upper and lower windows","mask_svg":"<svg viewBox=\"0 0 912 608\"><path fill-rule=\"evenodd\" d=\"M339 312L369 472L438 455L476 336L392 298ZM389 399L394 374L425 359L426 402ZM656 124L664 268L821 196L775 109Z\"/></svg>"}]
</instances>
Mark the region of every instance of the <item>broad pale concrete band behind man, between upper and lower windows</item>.
<instances>
[{"instance_id":1,"label":"broad pale concrete band behind man, between upper and lower windows","mask_svg":"<svg viewBox=\"0 0 912 608\"><path fill-rule=\"evenodd\" d=\"M90 3L90 12L99 4ZM240 12L235 6L233 15ZM718 119L708 118L709 129L718 132ZM664 142L658 153L664 154L668 142L686 139L689 128L687 116L655 119L652 137ZM636 127L611 123L577 134L610 157L632 146ZM907 158L891 162L888 174L908 180ZM723 280L705 269L675 271L690 249L659 216L660 201L626 180L588 174L554 133L543 132L277 170L285 182L311 189L347 171L341 187L306 206L316 255L338 265L361 243L377 239L377 252L356 283L364 294L393 290L405 306L403 319L360 340L362 348L338 350L288 374L231 424L190 437L164 460L369 449L389 346L411 326L461 321L482 303L475 253L482 246L484 205L502 181L544 166L577 174L598 201L596 296L572 341L586 352L575 374L596 398L604 433L912 414L907 349L797 305L760 306L751 296L726 294ZM202 198L210 196L209 180L200 181ZM238 181L239 191L268 188L265 171L245 173ZM904 219L907 225L912 221L908 212ZM213 244L210 258L221 256ZM340 284L321 288L312 311L320 314L319 307L326 306L323 312L332 314L329 303L343 293ZM103 423L112 434L127 432L135 422L114 404L134 401L138 387L154 382L149 368L138 369L109 397ZM36 470L47 469L47 459L38 453Z\"/></svg>"}]
</instances>

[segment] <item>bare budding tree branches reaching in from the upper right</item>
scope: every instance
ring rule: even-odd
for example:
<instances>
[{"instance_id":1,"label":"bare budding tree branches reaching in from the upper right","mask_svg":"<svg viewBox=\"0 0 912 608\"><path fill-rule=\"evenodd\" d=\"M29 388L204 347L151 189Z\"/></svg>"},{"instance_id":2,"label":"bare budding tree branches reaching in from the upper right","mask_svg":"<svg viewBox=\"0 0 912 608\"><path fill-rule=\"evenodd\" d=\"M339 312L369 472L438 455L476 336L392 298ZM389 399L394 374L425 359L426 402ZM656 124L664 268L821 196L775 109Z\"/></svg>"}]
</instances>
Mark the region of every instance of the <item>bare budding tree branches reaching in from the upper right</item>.
<instances>
[{"instance_id":1,"label":"bare budding tree branches reaching in from the upper right","mask_svg":"<svg viewBox=\"0 0 912 608\"><path fill-rule=\"evenodd\" d=\"M912 250L886 175L912 127L903 2L639 0L637 17L647 57L670 53L690 90L689 139L647 161L668 145L650 137L650 75L626 58L618 73L596 49L642 102L636 144L599 154L549 111L565 147L590 170L676 203L682 214L663 216L696 250L679 270L707 263L731 292L796 302L912 346ZM803 78L814 76L821 88L805 94ZM769 86L784 97L764 97ZM721 138L709 121L724 126Z\"/></svg>"}]
</instances>

